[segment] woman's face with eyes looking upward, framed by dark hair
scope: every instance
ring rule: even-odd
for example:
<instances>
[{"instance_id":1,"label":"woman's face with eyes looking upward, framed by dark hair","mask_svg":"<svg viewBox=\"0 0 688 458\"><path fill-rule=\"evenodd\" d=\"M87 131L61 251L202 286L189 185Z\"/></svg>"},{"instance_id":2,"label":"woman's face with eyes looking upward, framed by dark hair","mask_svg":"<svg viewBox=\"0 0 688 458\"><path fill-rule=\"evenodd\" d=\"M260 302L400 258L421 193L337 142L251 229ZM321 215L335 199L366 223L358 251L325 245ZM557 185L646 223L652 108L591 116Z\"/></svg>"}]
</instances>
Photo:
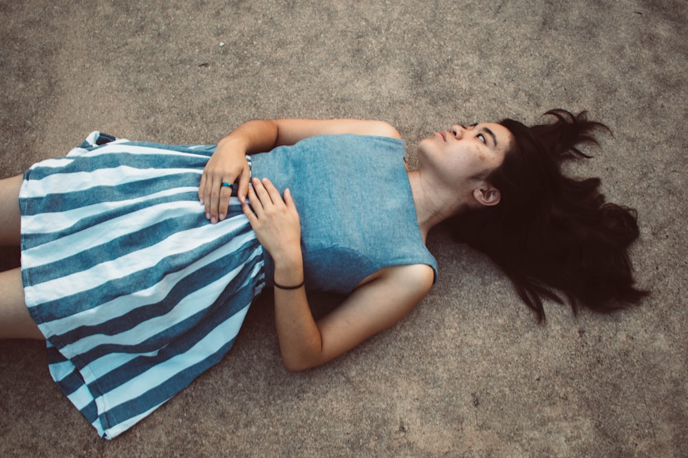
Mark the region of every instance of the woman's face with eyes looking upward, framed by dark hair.
<instances>
[{"instance_id":1,"label":"woman's face with eyes looking upward, framed by dark hair","mask_svg":"<svg viewBox=\"0 0 688 458\"><path fill-rule=\"evenodd\" d=\"M434 179L447 185L484 179L502 165L511 140L509 130L500 124L457 124L418 144L419 170L432 171L437 175Z\"/></svg>"}]
</instances>

